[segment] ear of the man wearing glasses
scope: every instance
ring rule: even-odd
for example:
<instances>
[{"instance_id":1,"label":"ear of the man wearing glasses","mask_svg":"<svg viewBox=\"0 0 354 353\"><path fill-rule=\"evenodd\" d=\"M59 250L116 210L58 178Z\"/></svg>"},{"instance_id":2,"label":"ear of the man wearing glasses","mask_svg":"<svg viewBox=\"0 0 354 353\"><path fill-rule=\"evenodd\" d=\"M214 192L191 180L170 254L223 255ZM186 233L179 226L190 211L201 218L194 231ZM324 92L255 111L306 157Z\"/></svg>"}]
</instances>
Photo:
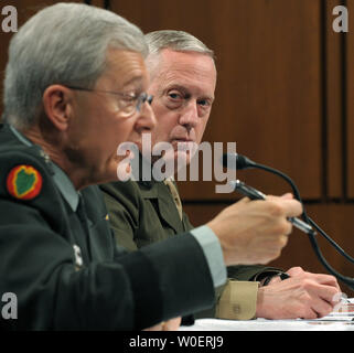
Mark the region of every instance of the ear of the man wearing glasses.
<instances>
[{"instance_id":1,"label":"ear of the man wearing glasses","mask_svg":"<svg viewBox=\"0 0 354 353\"><path fill-rule=\"evenodd\" d=\"M62 85L49 86L43 94L43 107L46 117L61 131L69 124L72 92Z\"/></svg>"}]
</instances>

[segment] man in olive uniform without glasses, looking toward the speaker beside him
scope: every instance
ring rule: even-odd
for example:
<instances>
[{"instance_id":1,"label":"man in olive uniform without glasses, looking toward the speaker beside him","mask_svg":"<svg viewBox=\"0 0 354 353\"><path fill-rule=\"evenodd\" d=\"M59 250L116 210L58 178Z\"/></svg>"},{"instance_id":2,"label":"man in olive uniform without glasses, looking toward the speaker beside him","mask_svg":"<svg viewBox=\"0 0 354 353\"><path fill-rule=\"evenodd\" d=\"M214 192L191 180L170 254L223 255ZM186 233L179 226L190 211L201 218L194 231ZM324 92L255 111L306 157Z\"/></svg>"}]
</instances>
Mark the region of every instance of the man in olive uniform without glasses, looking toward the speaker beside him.
<instances>
[{"instance_id":1,"label":"man in olive uniform without glasses, looking toward the speaker beside him","mask_svg":"<svg viewBox=\"0 0 354 353\"><path fill-rule=\"evenodd\" d=\"M154 95L152 107L158 120L152 145L170 142L175 161L181 157L189 160L190 156L180 156L186 154L187 149L178 151L178 143L201 142L216 85L213 52L182 31L157 31L146 38L150 50L149 93ZM139 136L132 135L130 140L141 150ZM116 239L129 250L193 228L170 178L112 182L100 188ZM305 272L299 267L283 272L264 266L233 266L228 267L228 277L227 285L218 290L222 295L215 310L201 315L242 320L255 315L317 318L332 310L330 297L339 290L334 277Z\"/></svg>"}]
</instances>

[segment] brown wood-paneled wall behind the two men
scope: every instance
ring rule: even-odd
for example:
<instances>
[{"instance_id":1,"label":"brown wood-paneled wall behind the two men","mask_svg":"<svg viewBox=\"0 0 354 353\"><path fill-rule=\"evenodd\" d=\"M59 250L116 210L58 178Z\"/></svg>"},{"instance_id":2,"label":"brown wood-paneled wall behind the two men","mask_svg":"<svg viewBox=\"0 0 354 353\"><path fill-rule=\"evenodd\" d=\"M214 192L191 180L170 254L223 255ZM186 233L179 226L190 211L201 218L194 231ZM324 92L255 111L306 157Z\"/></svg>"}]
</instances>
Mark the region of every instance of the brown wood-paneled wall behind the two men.
<instances>
[{"instance_id":1,"label":"brown wood-paneled wall behind the two men","mask_svg":"<svg viewBox=\"0 0 354 353\"><path fill-rule=\"evenodd\" d=\"M1 1L19 12L19 26L49 0ZM236 141L237 151L289 174L308 214L354 255L354 0L92 0L141 28L187 31L215 51L216 101L204 140ZM348 9L348 33L335 33L332 10ZM4 17L2 17L4 18ZM1 18L0 18L1 19ZM0 33L1 82L12 33ZM2 106L0 105L0 109ZM278 176L239 171L265 193L290 191ZM185 211L200 225L237 199L214 182L180 182ZM319 238L329 263L354 277ZM325 271L307 235L294 231L271 265ZM354 291L342 286L353 297Z\"/></svg>"}]
</instances>

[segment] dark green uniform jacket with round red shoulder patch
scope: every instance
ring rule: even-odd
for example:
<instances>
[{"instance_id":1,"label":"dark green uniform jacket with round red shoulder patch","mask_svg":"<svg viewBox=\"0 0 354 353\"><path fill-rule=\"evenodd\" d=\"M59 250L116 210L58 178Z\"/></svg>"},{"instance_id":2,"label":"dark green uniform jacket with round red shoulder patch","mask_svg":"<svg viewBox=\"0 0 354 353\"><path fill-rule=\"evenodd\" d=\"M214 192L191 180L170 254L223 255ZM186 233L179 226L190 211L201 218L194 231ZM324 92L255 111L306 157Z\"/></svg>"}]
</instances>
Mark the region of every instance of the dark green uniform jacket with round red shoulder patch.
<instances>
[{"instance_id":1,"label":"dark green uniform jacket with round red shoulder patch","mask_svg":"<svg viewBox=\"0 0 354 353\"><path fill-rule=\"evenodd\" d=\"M1 329L140 330L214 302L193 236L118 250L98 188L79 195L8 125L0 125L0 297L18 298L17 319L0 310Z\"/></svg>"}]
</instances>

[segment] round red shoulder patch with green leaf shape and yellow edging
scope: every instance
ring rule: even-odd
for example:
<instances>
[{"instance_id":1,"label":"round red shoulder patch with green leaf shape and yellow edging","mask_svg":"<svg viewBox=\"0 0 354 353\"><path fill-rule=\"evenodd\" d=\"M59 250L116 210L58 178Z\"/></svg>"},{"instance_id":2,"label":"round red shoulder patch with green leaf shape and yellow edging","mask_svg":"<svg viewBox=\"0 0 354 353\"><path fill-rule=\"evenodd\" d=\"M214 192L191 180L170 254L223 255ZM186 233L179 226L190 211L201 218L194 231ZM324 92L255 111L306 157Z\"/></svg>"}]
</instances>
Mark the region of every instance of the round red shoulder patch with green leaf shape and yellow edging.
<instances>
[{"instance_id":1,"label":"round red shoulder patch with green leaf shape and yellow edging","mask_svg":"<svg viewBox=\"0 0 354 353\"><path fill-rule=\"evenodd\" d=\"M10 195L20 200L32 200L42 190L42 175L32 165L21 164L11 169L7 178Z\"/></svg>"}]
</instances>

